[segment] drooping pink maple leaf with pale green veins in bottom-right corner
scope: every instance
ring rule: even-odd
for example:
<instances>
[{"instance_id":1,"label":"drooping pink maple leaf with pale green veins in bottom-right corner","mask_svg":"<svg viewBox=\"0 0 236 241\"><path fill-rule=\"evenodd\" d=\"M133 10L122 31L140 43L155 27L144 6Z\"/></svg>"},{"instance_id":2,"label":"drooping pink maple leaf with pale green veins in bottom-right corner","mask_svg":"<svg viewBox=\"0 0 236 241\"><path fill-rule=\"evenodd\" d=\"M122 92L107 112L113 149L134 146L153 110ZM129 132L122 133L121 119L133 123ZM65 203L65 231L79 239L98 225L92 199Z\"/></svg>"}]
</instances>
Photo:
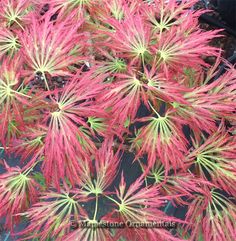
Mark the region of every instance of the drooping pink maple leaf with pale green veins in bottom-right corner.
<instances>
[{"instance_id":1,"label":"drooping pink maple leaf with pale green veins in bottom-right corner","mask_svg":"<svg viewBox=\"0 0 236 241\"><path fill-rule=\"evenodd\" d=\"M205 190L204 190L205 189ZM236 208L234 201L219 189L203 187L203 192L189 204L185 232L191 229L191 240L202 234L204 240L232 240L235 237Z\"/></svg>"}]
</instances>

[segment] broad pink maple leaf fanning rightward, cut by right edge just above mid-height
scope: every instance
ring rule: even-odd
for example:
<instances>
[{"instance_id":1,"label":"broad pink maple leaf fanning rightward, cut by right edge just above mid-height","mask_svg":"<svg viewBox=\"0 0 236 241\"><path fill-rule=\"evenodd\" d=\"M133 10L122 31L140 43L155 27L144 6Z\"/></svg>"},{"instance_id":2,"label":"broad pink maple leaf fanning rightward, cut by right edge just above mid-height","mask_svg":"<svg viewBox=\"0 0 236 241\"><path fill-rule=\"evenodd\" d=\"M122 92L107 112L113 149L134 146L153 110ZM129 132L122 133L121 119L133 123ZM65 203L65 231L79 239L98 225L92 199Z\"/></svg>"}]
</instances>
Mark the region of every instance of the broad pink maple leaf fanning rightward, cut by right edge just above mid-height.
<instances>
[{"instance_id":1,"label":"broad pink maple leaf fanning rightward, cut by right edge just above mid-height","mask_svg":"<svg viewBox=\"0 0 236 241\"><path fill-rule=\"evenodd\" d=\"M231 69L229 73L209 83L216 75L214 68L209 70L208 77L201 80L201 85L192 87L183 94L186 103L171 103L175 115L186 120L195 135L200 134L201 130L213 133L217 130L216 120L220 120L222 117L233 118L236 107L235 70ZM230 66L230 68L232 67Z\"/></svg>"}]
</instances>

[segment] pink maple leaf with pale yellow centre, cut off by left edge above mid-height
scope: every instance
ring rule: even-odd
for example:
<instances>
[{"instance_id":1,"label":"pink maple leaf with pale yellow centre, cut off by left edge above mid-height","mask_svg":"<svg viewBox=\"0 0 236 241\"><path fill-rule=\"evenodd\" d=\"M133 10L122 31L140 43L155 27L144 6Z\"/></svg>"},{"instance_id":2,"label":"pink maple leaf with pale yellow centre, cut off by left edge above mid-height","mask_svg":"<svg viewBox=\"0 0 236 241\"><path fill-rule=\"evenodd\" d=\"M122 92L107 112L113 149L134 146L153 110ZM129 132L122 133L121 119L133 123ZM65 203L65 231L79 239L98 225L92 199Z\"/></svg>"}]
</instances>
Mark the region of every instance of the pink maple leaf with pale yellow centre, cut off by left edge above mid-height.
<instances>
[{"instance_id":1,"label":"pink maple leaf with pale yellow centre, cut off by left edge above mid-height","mask_svg":"<svg viewBox=\"0 0 236 241\"><path fill-rule=\"evenodd\" d=\"M23 126L23 108L30 106L30 93L21 81L20 60L4 59L0 73L0 140L6 144L6 136L11 131L11 125ZM13 126L12 126L13 127ZM11 138L10 138L11 139Z\"/></svg>"}]
</instances>

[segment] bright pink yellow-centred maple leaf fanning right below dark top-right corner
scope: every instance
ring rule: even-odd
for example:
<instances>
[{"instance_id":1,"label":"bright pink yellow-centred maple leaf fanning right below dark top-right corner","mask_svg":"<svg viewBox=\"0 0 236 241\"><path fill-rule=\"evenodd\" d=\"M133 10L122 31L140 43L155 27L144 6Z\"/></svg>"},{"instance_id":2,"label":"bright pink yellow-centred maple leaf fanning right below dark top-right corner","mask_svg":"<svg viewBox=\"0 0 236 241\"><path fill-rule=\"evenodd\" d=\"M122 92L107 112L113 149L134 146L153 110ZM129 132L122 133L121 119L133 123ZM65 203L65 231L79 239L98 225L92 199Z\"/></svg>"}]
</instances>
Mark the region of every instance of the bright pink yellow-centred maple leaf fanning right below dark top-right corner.
<instances>
[{"instance_id":1,"label":"bright pink yellow-centred maple leaf fanning right below dark top-right corner","mask_svg":"<svg viewBox=\"0 0 236 241\"><path fill-rule=\"evenodd\" d=\"M156 55L157 67L162 69L167 77L171 71L183 71L183 67L207 66L202 56L217 56L219 52L219 49L208 45L211 39L219 37L219 30L196 30L186 35L186 29L182 28L182 25L174 26L151 46L151 53Z\"/></svg>"}]
</instances>

